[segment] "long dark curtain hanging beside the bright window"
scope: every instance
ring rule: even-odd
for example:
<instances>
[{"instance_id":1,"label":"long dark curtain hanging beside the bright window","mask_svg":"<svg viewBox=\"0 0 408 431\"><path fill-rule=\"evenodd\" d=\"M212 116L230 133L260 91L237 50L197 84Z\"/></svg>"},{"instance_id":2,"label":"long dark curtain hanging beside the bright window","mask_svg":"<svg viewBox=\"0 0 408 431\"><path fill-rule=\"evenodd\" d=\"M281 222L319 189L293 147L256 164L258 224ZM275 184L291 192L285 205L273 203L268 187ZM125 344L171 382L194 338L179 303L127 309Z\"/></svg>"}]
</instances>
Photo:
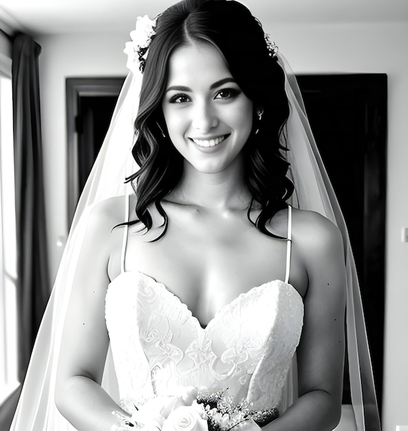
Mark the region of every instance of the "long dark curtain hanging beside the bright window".
<instances>
[{"instance_id":1,"label":"long dark curtain hanging beside the bright window","mask_svg":"<svg viewBox=\"0 0 408 431\"><path fill-rule=\"evenodd\" d=\"M14 170L17 229L19 380L23 381L50 295L45 233L43 158L39 103L41 47L19 34L12 50ZM20 390L20 389L19 389ZM19 390L0 409L0 428L10 427Z\"/></svg>"}]
</instances>

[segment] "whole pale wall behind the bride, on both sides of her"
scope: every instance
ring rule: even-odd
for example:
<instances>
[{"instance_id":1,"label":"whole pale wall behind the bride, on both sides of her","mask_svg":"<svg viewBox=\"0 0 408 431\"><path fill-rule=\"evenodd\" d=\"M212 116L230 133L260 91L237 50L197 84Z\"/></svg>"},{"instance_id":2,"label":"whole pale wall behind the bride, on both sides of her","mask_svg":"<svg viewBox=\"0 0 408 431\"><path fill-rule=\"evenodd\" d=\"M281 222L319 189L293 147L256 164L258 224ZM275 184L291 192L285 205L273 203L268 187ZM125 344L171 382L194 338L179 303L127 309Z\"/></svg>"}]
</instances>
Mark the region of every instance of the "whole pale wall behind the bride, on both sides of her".
<instances>
[{"instance_id":1,"label":"whole pale wall behind the bride, on both sides of her","mask_svg":"<svg viewBox=\"0 0 408 431\"><path fill-rule=\"evenodd\" d=\"M264 23L295 72L383 72L389 78L387 161L387 262L383 429L408 425L408 23L303 25ZM48 36L38 39L45 193L51 277L66 236L65 81L67 76L125 75L123 34Z\"/></svg>"}]
</instances>

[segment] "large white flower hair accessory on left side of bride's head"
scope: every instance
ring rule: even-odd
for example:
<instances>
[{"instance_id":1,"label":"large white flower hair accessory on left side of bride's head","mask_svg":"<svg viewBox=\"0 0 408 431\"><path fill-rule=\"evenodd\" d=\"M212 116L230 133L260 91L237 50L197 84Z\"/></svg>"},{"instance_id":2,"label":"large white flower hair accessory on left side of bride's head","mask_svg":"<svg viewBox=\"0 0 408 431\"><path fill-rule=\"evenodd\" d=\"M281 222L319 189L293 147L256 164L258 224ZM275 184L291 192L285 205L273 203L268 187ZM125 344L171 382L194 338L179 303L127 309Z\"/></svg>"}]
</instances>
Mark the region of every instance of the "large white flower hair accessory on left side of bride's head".
<instances>
[{"instance_id":1,"label":"large white flower hair accessory on left side of bride's head","mask_svg":"<svg viewBox=\"0 0 408 431\"><path fill-rule=\"evenodd\" d=\"M128 54L128 69L134 74L137 70L143 73L150 43L156 34L156 19L137 17L136 29L130 32L131 42L127 42L123 52Z\"/></svg>"}]
</instances>

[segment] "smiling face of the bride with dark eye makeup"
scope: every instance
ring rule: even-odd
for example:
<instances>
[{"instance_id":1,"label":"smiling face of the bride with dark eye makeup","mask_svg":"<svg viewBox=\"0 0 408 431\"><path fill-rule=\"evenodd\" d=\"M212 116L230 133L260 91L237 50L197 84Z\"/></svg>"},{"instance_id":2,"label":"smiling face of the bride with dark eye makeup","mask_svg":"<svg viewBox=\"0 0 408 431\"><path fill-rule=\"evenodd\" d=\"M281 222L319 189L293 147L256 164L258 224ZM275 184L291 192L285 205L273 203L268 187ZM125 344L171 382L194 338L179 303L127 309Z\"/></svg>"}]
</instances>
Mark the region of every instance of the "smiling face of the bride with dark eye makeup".
<instances>
[{"instance_id":1,"label":"smiling face of the bride with dark eye makeup","mask_svg":"<svg viewBox=\"0 0 408 431\"><path fill-rule=\"evenodd\" d=\"M174 147L203 173L229 167L252 131L253 103L210 43L174 51L162 107Z\"/></svg>"}]
</instances>

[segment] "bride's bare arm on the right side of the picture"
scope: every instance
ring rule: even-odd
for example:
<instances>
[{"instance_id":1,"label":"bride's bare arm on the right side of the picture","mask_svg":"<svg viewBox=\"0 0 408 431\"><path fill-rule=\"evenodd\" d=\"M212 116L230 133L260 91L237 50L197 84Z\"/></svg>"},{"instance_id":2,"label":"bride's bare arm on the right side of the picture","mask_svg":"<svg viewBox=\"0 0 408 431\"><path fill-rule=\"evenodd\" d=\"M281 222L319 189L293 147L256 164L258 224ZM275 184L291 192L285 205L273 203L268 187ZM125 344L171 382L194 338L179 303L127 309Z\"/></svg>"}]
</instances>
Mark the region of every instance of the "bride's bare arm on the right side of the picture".
<instances>
[{"instance_id":1,"label":"bride's bare arm on the right side of the picture","mask_svg":"<svg viewBox=\"0 0 408 431\"><path fill-rule=\"evenodd\" d=\"M345 357L345 257L338 228L321 215L296 211L294 244L308 276L297 349L297 401L270 431L332 431L340 420Z\"/></svg>"}]
</instances>

